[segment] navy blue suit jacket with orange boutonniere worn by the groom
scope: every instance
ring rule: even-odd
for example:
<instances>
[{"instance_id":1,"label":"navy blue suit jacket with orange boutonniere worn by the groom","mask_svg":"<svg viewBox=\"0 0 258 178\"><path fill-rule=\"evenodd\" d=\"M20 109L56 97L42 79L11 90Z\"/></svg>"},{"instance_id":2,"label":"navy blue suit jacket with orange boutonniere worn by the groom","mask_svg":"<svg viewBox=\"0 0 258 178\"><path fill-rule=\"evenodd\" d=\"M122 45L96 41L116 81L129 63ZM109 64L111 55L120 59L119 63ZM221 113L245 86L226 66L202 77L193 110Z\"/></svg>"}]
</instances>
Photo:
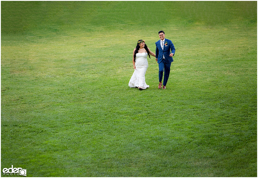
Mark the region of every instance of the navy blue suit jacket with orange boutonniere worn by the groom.
<instances>
[{"instance_id":1,"label":"navy blue suit jacket with orange boutonniere worn by the groom","mask_svg":"<svg viewBox=\"0 0 258 178\"><path fill-rule=\"evenodd\" d=\"M165 45L167 43L167 45ZM170 57L169 55L173 53L175 55L175 47L169 39L165 39L165 44L164 48L162 49L160 45L160 40L157 41L156 43L156 58L158 59L158 63L160 63L163 59L163 55L165 57L165 62L166 63L171 63L173 62L173 57ZM170 52L171 50L171 52Z\"/></svg>"}]
</instances>

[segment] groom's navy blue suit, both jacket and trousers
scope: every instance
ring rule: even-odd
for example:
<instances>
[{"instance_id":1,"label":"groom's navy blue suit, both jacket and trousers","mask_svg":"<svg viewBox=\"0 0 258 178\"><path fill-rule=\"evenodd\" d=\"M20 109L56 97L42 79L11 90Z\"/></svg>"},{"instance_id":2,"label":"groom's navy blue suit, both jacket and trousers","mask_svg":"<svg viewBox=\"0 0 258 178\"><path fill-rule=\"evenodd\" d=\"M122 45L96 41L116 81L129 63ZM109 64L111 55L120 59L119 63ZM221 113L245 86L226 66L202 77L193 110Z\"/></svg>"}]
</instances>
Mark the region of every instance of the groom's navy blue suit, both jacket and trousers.
<instances>
[{"instance_id":1,"label":"groom's navy blue suit, both jacket and trousers","mask_svg":"<svg viewBox=\"0 0 258 178\"><path fill-rule=\"evenodd\" d=\"M175 55L175 47L172 41L170 41L169 39L165 39L163 49L160 45L160 40L157 41L155 44L156 44L156 58L158 59L158 64L159 64L159 81L160 82L162 81L163 72L164 72L163 85L166 86L167 80L169 78L171 62L173 62L173 57L170 57L169 55L171 53ZM163 55L165 59L163 59Z\"/></svg>"}]
</instances>

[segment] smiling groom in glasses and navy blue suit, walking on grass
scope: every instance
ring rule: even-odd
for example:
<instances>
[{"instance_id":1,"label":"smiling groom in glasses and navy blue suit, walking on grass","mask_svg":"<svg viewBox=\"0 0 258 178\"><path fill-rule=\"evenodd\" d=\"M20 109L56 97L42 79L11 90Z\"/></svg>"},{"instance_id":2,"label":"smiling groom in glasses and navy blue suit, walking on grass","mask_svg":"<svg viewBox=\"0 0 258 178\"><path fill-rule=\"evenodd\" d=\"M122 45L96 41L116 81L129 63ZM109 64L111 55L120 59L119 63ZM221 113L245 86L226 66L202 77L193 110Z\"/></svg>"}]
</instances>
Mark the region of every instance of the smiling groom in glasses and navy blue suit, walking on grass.
<instances>
[{"instance_id":1,"label":"smiling groom in glasses and navy blue suit, walking on grass","mask_svg":"<svg viewBox=\"0 0 258 178\"><path fill-rule=\"evenodd\" d=\"M159 89L162 87L162 77L164 72L163 88L166 89L167 80L169 78L171 62L175 54L175 47L169 39L165 39L165 32L159 31L160 40L156 44L156 61L159 64ZM171 50L171 53L170 53Z\"/></svg>"}]
</instances>

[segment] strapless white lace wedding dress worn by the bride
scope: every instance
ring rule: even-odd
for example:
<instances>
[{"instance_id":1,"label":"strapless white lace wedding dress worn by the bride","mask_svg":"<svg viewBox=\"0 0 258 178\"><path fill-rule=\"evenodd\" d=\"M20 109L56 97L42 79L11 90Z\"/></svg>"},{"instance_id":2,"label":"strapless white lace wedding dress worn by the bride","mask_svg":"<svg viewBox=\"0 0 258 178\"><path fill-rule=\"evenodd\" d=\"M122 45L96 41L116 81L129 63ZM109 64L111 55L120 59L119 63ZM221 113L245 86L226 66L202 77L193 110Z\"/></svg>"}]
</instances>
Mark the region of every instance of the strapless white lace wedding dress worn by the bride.
<instances>
[{"instance_id":1,"label":"strapless white lace wedding dress worn by the bride","mask_svg":"<svg viewBox=\"0 0 258 178\"><path fill-rule=\"evenodd\" d=\"M145 82L145 73L148 68L148 53L136 53L134 73L129 81L129 87L140 87L141 89L146 89L149 85Z\"/></svg>"}]
</instances>

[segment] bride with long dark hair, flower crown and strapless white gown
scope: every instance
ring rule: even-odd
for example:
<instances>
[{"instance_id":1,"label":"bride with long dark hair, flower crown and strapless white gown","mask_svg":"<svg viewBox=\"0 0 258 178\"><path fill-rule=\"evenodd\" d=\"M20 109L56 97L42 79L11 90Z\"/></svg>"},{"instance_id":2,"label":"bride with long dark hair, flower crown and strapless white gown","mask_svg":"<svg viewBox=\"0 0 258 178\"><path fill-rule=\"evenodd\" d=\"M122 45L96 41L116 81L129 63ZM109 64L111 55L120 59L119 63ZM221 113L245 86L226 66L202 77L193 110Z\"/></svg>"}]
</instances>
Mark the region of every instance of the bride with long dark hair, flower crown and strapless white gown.
<instances>
[{"instance_id":1,"label":"bride with long dark hair, flower crown and strapless white gown","mask_svg":"<svg viewBox=\"0 0 258 178\"><path fill-rule=\"evenodd\" d=\"M147 47L144 40L138 40L133 52L134 73L128 84L130 88L138 87L138 89L143 90L149 87L145 82L145 73L148 68L147 56L150 58L150 55L156 57Z\"/></svg>"}]
</instances>

